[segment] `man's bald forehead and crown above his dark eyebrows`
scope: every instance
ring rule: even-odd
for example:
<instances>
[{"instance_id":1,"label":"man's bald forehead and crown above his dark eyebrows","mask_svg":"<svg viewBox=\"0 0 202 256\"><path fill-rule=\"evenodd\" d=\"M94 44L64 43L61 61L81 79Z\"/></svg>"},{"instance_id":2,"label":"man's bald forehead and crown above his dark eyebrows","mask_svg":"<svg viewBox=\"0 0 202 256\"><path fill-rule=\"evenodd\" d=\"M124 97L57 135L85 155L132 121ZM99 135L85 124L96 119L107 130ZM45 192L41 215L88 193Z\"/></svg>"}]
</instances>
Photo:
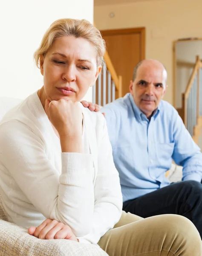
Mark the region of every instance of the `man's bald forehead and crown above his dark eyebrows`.
<instances>
[{"instance_id":1,"label":"man's bald forehead and crown above his dark eyebrows","mask_svg":"<svg viewBox=\"0 0 202 256\"><path fill-rule=\"evenodd\" d=\"M162 83L166 84L167 72L164 67L155 65L141 65L137 70L136 79L147 81L148 83Z\"/></svg>"}]
</instances>

